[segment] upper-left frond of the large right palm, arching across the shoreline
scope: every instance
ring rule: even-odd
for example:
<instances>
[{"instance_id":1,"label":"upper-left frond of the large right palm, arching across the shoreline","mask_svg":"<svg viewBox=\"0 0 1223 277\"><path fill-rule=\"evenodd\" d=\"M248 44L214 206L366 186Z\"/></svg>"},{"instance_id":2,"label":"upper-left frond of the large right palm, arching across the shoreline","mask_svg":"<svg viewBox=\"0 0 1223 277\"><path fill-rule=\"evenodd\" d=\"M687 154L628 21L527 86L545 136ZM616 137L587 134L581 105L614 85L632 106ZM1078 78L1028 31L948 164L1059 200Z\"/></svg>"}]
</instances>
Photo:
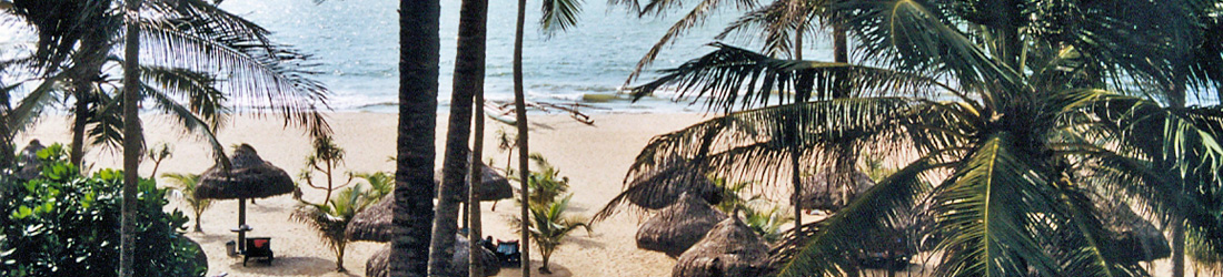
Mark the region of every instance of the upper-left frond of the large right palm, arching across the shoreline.
<instances>
[{"instance_id":1,"label":"upper-left frond of the large right palm, arching across the shoreline","mask_svg":"<svg viewBox=\"0 0 1223 277\"><path fill-rule=\"evenodd\" d=\"M846 96L929 96L938 92L963 93L923 76L837 62L783 60L750 50L713 44L715 51L665 70L663 77L632 88L641 99L663 88L675 88L679 98L708 98L709 110L744 109L824 100L844 89L835 78L845 76Z\"/></svg>"}]
</instances>

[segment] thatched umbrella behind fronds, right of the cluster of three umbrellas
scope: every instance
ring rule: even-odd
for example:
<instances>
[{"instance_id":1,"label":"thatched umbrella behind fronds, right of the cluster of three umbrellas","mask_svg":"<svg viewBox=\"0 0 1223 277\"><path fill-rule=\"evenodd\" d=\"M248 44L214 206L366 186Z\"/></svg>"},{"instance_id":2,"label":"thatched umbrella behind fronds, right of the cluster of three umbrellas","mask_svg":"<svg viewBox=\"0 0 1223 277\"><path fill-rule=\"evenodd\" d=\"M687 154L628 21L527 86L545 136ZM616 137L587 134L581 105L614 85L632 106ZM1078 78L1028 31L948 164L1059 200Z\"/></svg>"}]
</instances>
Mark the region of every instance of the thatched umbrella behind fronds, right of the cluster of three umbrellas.
<instances>
[{"instance_id":1,"label":"thatched umbrella behind fronds, right of the cluster of three umbrellas","mask_svg":"<svg viewBox=\"0 0 1223 277\"><path fill-rule=\"evenodd\" d=\"M874 187L874 181L871 181L871 176L861 171L855 170L850 178L845 179L837 178L834 170L824 168L802 179L801 207L806 210L840 210L856 194L866 192L871 187Z\"/></svg>"}]
</instances>

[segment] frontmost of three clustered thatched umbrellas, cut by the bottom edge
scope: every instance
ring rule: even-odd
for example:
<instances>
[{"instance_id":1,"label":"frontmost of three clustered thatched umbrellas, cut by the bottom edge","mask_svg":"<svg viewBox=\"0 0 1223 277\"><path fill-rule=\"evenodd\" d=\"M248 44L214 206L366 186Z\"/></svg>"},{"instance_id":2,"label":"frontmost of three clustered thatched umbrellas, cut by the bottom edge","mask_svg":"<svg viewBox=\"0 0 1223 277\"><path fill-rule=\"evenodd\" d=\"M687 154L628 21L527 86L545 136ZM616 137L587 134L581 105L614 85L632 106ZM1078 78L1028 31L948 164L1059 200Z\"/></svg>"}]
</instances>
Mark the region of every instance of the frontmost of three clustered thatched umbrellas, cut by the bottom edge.
<instances>
[{"instance_id":1,"label":"frontmost of three clustered thatched umbrellas, cut by the bottom edge","mask_svg":"<svg viewBox=\"0 0 1223 277\"><path fill-rule=\"evenodd\" d=\"M768 245L739 216L718 222L680 255L671 277L759 276L767 272Z\"/></svg>"}]
</instances>

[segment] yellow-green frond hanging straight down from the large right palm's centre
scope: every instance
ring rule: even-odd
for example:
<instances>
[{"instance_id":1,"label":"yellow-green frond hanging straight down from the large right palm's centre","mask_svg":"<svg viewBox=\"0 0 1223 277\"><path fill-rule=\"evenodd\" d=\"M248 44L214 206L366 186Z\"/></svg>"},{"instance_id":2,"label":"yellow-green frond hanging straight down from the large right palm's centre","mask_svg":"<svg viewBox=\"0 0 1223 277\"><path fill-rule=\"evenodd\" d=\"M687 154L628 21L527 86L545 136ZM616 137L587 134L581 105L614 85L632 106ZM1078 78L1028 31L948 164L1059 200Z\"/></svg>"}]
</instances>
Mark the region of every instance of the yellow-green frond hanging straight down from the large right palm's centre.
<instances>
[{"instance_id":1,"label":"yellow-green frond hanging straight down from the large right palm's centre","mask_svg":"<svg viewBox=\"0 0 1223 277\"><path fill-rule=\"evenodd\" d=\"M948 276L1057 275L1059 265L1033 239L1032 218L1053 203L1049 182L1015 153L1005 132L986 138L934 194L937 223L953 236L939 244L938 270ZM1046 212L1042 212L1046 211Z\"/></svg>"}]
</instances>

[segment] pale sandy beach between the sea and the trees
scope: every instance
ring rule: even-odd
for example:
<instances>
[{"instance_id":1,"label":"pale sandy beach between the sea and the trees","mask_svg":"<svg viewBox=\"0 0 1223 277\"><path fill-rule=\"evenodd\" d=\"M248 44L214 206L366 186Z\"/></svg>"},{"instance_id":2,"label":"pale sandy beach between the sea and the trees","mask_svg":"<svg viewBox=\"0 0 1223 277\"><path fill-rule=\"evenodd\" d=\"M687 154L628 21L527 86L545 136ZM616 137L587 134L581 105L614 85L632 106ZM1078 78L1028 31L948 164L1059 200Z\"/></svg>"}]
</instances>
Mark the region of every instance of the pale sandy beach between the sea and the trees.
<instances>
[{"instance_id":1,"label":"pale sandy beach between the sea and the trees","mask_svg":"<svg viewBox=\"0 0 1223 277\"><path fill-rule=\"evenodd\" d=\"M438 115L438 160L442 165L443 138L446 113ZM591 216L609 199L620 192L621 179L629 165L641 148L656 134L667 133L692 124L701 120L695 113L652 113L652 115L596 115L594 126L586 126L564 115L532 116L536 124L531 133L531 150L543 154L561 176L571 182L574 199L570 211ZM204 143L192 135L182 135L172 128L163 116L144 116L147 142L157 144L170 143L174 156L161 164L158 174L164 172L201 173L213 166L210 153ZM329 118L335 129L335 142L346 151L344 168L356 172L394 171L395 165L388 157L395 153L394 113L331 113ZM17 138L18 146L24 146L31 138L38 138L44 144L53 142L67 143L70 137L65 117L48 117L39 122L29 133ZM494 159L494 166L504 166L506 154L497 150L493 134L504 128L501 123L489 121L484 143L486 161ZM259 155L296 176L303 167L308 155L309 139L300 128L283 128L283 122L274 117L252 118L235 117L232 123L218 134L224 145L247 143L258 150ZM117 150L91 149L93 168L121 167ZM148 176L152 162L141 164L141 174ZM305 199L322 201L325 192L305 188ZM170 201L181 210L182 200ZM335 257L319 240L313 229L303 223L289 220L295 200L290 195L259 199L248 205L247 222L254 228L248 236L272 237L272 246L276 260L270 265L251 264L242 266L241 259L225 255L225 242L236 239L229 229L237 225L237 201L224 200L213 204L203 214L203 233L187 233L199 242L208 254L208 276L227 272L229 276L363 276L366 260L377 251L380 243L352 243L347 248L344 265L347 273L335 272ZM503 200L492 211L483 205L484 234L494 238L516 239L511 232L510 217L517 209L512 201ZM190 214L190 212L188 212ZM668 276L674 260L660 253L638 250L634 240L638 218L623 214L594 226L594 232L586 234L575 232L552 257L550 276ZM532 261L538 264L538 251L532 251ZM538 267L534 266L534 267ZM503 268L498 276L520 276L516 268ZM543 276L543 275L537 275Z\"/></svg>"}]
</instances>

